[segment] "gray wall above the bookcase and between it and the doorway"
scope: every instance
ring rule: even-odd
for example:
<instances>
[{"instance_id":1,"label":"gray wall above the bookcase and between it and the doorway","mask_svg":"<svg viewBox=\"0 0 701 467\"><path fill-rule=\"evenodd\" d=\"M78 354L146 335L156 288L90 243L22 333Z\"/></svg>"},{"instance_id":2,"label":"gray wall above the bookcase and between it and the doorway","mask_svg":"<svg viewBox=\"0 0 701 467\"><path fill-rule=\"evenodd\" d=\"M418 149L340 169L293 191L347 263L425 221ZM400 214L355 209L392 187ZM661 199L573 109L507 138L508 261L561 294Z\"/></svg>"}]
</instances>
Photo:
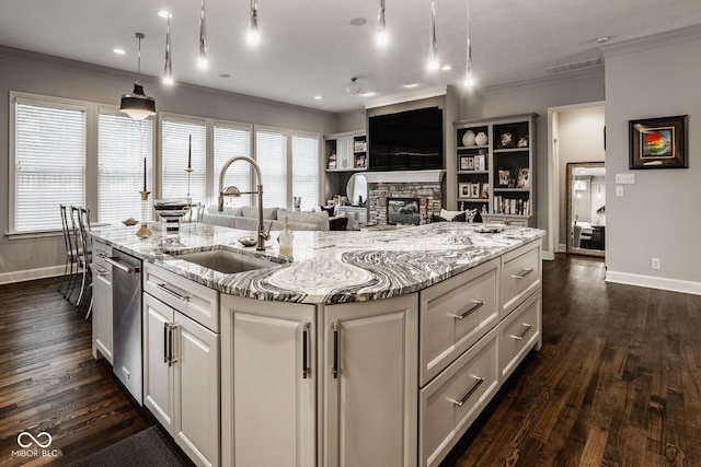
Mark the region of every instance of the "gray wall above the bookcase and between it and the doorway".
<instances>
[{"instance_id":1,"label":"gray wall above the bookcase and between it and the doorway","mask_svg":"<svg viewBox=\"0 0 701 467\"><path fill-rule=\"evenodd\" d=\"M536 120L536 196L538 227L548 229L548 108L586 102L604 101L601 69L572 77L562 77L501 86L481 94L467 94L460 106L460 119L495 118L508 115L540 115ZM545 236L543 246L550 242Z\"/></svg>"}]
</instances>

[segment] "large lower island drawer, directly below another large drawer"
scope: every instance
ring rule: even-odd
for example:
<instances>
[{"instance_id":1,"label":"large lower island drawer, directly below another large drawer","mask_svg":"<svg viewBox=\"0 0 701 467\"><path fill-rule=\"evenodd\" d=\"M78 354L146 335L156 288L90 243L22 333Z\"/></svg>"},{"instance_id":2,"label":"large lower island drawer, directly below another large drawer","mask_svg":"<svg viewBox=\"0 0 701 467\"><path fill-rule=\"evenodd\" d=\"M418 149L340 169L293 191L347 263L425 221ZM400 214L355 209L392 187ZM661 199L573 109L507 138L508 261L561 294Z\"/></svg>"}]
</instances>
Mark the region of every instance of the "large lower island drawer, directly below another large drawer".
<instances>
[{"instance_id":1,"label":"large lower island drawer, directly below another large drawer","mask_svg":"<svg viewBox=\"0 0 701 467\"><path fill-rule=\"evenodd\" d=\"M421 466L436 466L498 390L498 328L421 392Z\"/></svg>"}]
</instances>

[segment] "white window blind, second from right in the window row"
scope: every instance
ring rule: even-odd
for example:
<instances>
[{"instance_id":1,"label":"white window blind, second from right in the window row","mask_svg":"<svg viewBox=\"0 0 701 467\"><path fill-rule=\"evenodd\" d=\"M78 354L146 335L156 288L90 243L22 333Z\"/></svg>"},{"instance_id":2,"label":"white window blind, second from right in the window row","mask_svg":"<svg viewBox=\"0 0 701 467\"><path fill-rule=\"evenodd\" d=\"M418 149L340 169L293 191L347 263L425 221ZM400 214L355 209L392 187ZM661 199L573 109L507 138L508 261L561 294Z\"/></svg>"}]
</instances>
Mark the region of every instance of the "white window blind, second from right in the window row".
<instances>
[{"instance_id":1,"label":"white window blind, second from right in the window row","mask_svg":"<svg viewBox=\"0 0 701 467\"><path fill-rule=\"evenodd\" d=\"M287 135L256 129L255 160L263 172L263 207L287 208Z\"/></svg>"}]
</instances>

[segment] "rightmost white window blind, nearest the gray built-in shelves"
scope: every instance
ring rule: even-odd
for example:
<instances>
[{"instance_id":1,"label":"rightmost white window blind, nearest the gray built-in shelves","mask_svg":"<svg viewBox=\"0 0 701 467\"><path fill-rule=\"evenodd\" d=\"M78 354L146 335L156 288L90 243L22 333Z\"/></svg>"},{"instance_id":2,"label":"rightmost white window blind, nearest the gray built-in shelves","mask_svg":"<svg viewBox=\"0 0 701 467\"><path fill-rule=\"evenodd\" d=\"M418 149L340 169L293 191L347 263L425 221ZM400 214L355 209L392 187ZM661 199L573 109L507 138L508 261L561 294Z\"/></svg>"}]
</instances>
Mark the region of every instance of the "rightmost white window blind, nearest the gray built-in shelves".
<instances>
[{"instance_id":1,"label":"rightmost white window blind, nearest the gray built-in shelves","mask_svg":"<svg viewBox=\"0 0 701 467\"><path fill-rule=\"evenodd\" d=\"M292 196L302 211L319 206L319 137L292 135Z\"/></svg>"}]
</instances>

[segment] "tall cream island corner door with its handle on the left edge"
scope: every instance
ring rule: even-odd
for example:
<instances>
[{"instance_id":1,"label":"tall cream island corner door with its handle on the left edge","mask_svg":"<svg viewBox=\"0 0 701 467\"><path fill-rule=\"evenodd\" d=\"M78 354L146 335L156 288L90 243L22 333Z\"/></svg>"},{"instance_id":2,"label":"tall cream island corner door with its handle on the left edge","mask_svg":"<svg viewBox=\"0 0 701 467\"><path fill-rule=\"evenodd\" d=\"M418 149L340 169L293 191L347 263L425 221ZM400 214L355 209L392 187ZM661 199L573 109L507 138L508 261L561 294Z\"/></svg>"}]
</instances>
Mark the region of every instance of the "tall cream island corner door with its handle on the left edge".
<instances>
[{"instance_id":1,"label":"tall cream island corner door with its handle on the left edge","mask_svg":"<svg viewBox=\"0 0 701 467\"><path fill-rule=\"evenodd\" d=\"M323 312L321 465L415 466L417 294Z\"/></svg>"}]
</instances>

